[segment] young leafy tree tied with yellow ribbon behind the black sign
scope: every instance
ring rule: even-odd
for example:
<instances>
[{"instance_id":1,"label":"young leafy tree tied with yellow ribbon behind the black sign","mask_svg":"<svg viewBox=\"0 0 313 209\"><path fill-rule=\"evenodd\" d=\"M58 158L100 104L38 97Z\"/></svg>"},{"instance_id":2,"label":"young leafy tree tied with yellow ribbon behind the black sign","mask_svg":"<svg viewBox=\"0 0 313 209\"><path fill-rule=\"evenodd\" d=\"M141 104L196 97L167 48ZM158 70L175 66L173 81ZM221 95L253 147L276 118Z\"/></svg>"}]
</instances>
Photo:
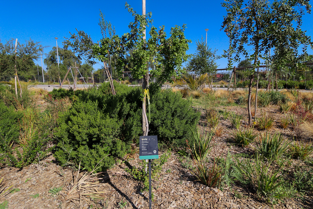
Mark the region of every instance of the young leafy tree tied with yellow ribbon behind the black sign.
<instances>
[{"instance_id":1,"label":"young leafy tree tied with yellow ribbon behind the black sign","mask_svg":"<svg viewBox=\"0 0 313 209\"><path fill-rule=\"evenodd\" d=\"M171 28L171 36L167 38L165 33L165 27L160 27L157 30L154 26L150 29L150 38L145 38L146 26L152 23L151 12L146 15L139 15L133 10L127 3L125 4L128 12L135 18L134 22L129 24L130 32L122 35L114 35L111 38L101 39L101 44L93 45L93 52L96 57L103 60L108 54L114 54L116 56L116 65L122 69L124 64L124 57L128 50L132 49L132 57L130 62L134 64L132 69L132 76L136 79L143 78L144 81L148 81L148 61L153 60L154 68L150 70L152 77L159 76L159 84L163 83L171 76L175 76L175 70L178 73L182 73L182 63L187 61L188 55L186 51L191 41L185 38L184 30L185 25L182 27L175 26ZM122 71L119 71L121 75ZM146 116L146 88L148 82L142 84L142 111L143 111L143 135L148 134L149 124Z\"/></svg>"}]
</instances>

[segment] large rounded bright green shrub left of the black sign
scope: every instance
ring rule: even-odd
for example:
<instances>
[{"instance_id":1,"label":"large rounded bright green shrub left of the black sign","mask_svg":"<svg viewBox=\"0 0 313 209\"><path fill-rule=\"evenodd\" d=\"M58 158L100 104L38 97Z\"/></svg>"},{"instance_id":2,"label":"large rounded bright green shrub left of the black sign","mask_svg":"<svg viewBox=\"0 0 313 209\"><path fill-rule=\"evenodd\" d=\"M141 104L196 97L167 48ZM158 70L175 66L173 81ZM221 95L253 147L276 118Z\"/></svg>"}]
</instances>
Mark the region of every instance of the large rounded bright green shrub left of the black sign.
<instances>
[{"instance_id":1,"label":"large rounded bright green shrub left of the black sign","mask_svg":"<svg viewBox=\"0 0 313 209\"><path fill-rule=\"evenodd\" d=\"M122 120L117 115L110 118L98 108L97 102L75 102L69 111L58 119L55 137L59 139L55 158L61 165L73 162L88 171L100 166L110 168L114 165L114 157L123 157L127 141L118 137L121 133Z\"/></svg>"}]
</instances>

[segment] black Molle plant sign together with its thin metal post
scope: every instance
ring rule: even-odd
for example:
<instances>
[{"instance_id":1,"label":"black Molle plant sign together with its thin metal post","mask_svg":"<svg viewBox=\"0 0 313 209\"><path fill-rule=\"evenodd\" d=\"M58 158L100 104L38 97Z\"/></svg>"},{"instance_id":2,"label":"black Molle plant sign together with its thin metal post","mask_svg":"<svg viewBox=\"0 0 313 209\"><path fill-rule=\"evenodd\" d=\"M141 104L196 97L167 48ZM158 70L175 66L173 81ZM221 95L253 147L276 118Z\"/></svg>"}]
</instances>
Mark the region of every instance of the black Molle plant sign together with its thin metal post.
<instances>
[{"instance_id":1,"label":"black Molle plant sign together with its thin metal post","mask_svg":"<svg viewBox=\"0 0 313 209\"><path fill-rule=\"evenodd\" d=\"M159 159L157 136L139 137L139 159L149 160L149 209L151 209L151 159Z\"/></svg>"}]
</instances>

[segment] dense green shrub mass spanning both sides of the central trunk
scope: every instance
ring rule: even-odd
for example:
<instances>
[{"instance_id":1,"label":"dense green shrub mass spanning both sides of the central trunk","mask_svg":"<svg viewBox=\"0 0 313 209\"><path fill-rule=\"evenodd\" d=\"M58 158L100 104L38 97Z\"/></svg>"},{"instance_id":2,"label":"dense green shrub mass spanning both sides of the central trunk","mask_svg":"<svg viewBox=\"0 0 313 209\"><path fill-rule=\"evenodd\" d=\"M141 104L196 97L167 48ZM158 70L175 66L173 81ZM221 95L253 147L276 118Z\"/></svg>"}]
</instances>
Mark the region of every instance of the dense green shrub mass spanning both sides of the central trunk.
<instances>
[{"instance_id":1,"label":"dense green shrub mass spanning both sides of the central trunk","mask_svg":"<svg viewBox=\"0 0 313 209\"><path fill-rule=\"evenodd\" d=\"M142 134L141 88L114 83L116 95L108 83L87 90L58 89L51 97L69 97L72 107L60 115L55 137L59 140L55 158L62 164L74 163L92 170L101 161L102 169L115 164L131 143ZM190 134L189 126L199 120L179 93L150 87L151 122L149 135L157 135L160 143L182 146ZM147 107L148 108L148 107Z\"/></svg>"}]
</instances>

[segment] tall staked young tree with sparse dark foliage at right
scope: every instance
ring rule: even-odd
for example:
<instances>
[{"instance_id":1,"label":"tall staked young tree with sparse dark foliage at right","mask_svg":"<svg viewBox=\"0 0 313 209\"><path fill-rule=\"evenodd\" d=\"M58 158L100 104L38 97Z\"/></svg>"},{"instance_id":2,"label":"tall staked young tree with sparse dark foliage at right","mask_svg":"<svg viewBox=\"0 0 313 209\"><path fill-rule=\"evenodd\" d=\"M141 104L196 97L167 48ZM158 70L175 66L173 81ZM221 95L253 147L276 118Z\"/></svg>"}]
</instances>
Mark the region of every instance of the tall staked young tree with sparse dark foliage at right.
<instances>
[{"instance_id":1,"label":"tall staked young tree with sparse dark foliage at right","mask_svg":"<svg viewBox=\"0 0 313 209\"><path fill-rule=\"evenodd\" d=\"M253 67L249 72L248 114L251 125L251 86L257 76L261 59L271 48L279 55L277 60L285 59L284 55L290 54L290 49L295 49L301 44L312 43L300 28L302 16L307 11L310 13L308 0L275 0L271 4L265 0L227 0L222 6L226 8L222 29L226 33L237 34L231 45L236 49L236 60L239 55L253 60ZM297 8L299 8L297 10ZM231 25L232 27L229 27ZM234 26L234 27L233 27ZM233 31L236 29L236 31ZM249 48L252 48L249 54Z\"/></svg>"}]
</instances>

